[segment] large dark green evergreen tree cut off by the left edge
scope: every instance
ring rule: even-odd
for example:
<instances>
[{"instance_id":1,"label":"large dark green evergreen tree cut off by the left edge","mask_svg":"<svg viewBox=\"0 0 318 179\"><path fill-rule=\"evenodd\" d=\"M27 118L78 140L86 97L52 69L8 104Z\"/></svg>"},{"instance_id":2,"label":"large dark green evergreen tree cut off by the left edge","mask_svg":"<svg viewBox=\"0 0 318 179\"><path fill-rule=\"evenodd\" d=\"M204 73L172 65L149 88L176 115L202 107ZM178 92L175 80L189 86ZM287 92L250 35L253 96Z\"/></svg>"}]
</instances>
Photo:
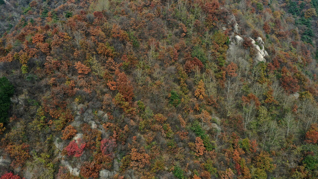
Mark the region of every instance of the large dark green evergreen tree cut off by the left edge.
<instances>
[{"instance_id":1,"label":"large dark green evergreen tree cut off by the left edge","mask_svg":"<svg viewBox=\"0 0 318 179\"><path fill-rule=\"evenodd\" d=\"M7 78L0 78L0 123L6 123L8 110L10 108L10 97L13 95L14 88Z\"/></svg>"}]
</instances>

